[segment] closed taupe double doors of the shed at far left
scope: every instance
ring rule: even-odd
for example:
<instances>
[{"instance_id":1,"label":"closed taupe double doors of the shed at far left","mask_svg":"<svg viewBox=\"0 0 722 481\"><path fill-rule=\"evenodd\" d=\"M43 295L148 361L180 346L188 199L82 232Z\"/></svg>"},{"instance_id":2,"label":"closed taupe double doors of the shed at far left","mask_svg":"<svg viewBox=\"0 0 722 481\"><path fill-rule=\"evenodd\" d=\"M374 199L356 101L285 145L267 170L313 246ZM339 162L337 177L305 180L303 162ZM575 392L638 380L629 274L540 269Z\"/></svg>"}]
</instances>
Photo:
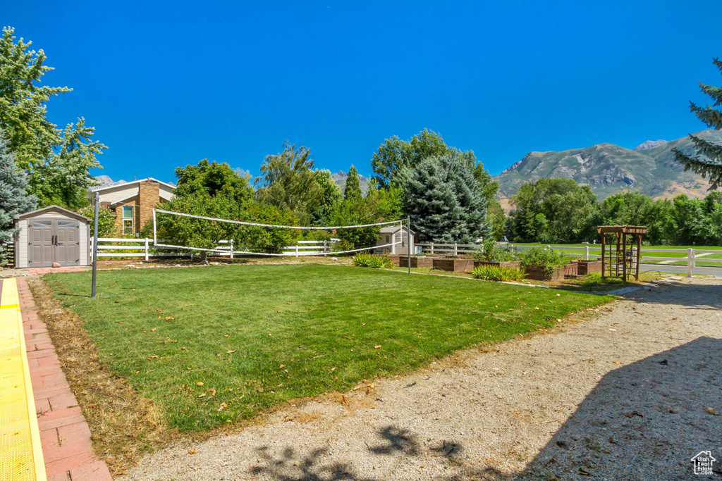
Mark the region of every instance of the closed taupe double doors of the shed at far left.
<instances>
[{"instance_id":1,"label":"closed taupe double doors of the shed at far left","mask_svg":"<svg viewBox=\"0 0 722 481\"><path fill-rule=\"evenodd\" d=\"M80 263L80 224L75 220L32 219L28 222L30 237L27 260L30 268L46 268Z\"/></svg>"}]
</instances>

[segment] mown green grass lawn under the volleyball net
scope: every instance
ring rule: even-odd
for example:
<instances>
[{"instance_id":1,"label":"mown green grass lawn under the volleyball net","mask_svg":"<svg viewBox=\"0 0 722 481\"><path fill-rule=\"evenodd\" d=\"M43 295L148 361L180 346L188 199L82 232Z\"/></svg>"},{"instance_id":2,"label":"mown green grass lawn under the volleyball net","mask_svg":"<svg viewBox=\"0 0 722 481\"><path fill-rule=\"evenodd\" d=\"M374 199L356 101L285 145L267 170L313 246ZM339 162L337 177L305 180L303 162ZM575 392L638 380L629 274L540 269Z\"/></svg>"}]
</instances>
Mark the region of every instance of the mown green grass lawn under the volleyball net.
<instances>
[{"instance_id":1,"label":"mown green grass lawn under the volleyball net","mask_svg":"<svg viewBox=\"0 0 722 481\"><path fill-rule=\"evenodd\" d=\"M96 299L90 273L44 279L103 363L181 431L344 391L612 299L316 264L100 271Z\"/></svg>"}]
</instances>

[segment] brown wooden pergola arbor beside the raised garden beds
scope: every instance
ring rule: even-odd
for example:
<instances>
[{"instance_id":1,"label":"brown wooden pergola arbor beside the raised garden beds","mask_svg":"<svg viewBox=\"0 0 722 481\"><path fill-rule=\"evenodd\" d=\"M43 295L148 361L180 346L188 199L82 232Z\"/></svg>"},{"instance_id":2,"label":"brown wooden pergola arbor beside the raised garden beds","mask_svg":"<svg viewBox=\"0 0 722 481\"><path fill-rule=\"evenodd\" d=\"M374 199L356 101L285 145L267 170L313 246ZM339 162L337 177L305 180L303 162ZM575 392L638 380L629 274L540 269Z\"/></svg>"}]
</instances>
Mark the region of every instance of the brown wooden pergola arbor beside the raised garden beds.
<instances>
[{"instance_id":1,"label":"brown wooden pergola arbor beside the raised garden beds","mask_svg":"<svg viewBox=\"0 0 722 481\"><path fill-rule=\"evenodd\" d=\"M645 226L597 226L596 231L601 234L601 278L605 278L605 272L608 272L609 277L619 277L619 268L621 267L623 281L627 282L627 273L629 275L633 273L635 280L639 280L642 234L647 233L647 228ZM612 246L609 246L609 255L606 255L604 249L606 234L617 234L617 250L612 250ZM634 243L634 236L637 236L637 252L633 250L627 252L627 234L632 236L630 247Z\"/></svg>"}]
</instances>

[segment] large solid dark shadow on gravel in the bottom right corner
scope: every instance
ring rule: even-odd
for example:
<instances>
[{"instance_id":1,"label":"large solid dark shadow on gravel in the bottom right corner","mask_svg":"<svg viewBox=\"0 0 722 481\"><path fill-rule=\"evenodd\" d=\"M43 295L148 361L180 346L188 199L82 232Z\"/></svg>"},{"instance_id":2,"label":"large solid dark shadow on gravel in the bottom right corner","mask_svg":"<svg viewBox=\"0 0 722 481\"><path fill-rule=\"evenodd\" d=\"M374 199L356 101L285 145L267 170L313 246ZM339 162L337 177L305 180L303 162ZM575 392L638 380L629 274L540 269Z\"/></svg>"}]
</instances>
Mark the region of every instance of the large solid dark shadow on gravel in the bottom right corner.
<instances>
[{"instance_id":1,"label":"large solid dark shadow on gravel in the bottom right corner","mask_svg":"<svg viewBox=\"0 0 722 481\"><path fill-rule=\"evenodd\" d=\"M695 478L692 456L722 456L722 416L705 410L722 412L721 353L722 340L699 337L609 372L511 479Z\"/></svg>"}]
</instances>

